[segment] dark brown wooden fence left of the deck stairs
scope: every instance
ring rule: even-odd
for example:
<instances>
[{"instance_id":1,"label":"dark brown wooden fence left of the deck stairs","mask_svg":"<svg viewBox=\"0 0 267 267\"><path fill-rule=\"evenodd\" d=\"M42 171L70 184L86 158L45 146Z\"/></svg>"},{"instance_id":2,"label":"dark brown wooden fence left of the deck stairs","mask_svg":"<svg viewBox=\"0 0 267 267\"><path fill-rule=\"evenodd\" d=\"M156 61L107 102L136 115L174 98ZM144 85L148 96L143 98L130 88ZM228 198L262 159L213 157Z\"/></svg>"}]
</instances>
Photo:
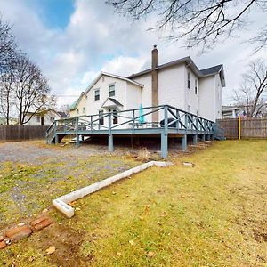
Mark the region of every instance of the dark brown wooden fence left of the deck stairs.
<instances>
[{"instance_id":1,"label":"dark brown wooden fence left of the deck stairs","mask_svg":"<svg viewBox=\"0 0 267 267\"><path fill-rule=\"evenodd\" d=\"M44 139L48 126L0 125L0 142Z\"/></svg>"}]
</instances>

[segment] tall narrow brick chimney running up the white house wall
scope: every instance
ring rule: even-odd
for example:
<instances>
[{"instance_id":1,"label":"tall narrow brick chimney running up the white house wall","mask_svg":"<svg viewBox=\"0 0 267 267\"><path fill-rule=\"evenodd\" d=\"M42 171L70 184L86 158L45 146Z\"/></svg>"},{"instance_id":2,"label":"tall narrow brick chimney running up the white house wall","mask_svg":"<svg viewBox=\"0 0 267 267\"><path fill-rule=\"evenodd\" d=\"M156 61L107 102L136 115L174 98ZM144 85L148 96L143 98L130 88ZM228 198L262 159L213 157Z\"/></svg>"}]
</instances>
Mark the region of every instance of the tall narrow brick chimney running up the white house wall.
<instances>
[{"instance_id":1,"label":"tall narrow brick chimney running up the white house wall","mask_svg":"<svg viewBox=\"0 0 267 267\"><path fill-rule=\"evenodd\" d=\"M152 85L152 106L158 106L158 49L157 45L151 52L151 85ZM152 121L158 122L158 112L152 113Z\"/></svg>"}]
</instances>

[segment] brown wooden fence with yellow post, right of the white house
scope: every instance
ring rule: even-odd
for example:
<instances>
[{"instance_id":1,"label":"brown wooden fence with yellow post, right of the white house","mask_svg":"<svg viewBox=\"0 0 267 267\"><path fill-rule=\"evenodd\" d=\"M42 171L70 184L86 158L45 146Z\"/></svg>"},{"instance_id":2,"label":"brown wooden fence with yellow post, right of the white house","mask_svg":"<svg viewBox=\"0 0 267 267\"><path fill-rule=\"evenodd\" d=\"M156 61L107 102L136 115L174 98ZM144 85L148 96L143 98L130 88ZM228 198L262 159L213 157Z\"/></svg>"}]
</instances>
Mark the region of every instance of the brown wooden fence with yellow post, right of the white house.
<instances>
[{"instance_id":1,"label":"brown wooden fence with yellow post, right of the white house","mask_svg":"<svg viewBox=\"0 0 267 267\"><path fill-rule=\"evenodd\" d=\"M227 139L239 138L239 119L223 118L217 123L224 128ZM267 138L267 118L241 118L241 139Z\"/></svg>"}]
</instances>

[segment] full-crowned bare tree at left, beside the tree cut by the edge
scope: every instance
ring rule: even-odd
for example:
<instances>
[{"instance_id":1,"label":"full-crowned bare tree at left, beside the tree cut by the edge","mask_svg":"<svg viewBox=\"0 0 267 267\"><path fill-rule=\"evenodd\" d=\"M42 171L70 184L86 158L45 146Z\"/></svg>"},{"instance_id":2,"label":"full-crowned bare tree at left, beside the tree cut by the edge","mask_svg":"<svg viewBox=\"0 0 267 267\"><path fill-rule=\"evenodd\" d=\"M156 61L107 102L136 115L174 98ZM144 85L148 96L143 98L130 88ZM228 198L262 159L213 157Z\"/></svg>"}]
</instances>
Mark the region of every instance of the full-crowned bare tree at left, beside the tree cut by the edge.
<instances>
[{"instance_id":1,"label":"full-crowned bare tree at left, beside the tree cut by the edge","mask_svg":"<svg viewBox=\"0 0 267 267\"><path fill-rule=\"evenodd\" d=\"M24 54L20 54L16 64L15 97L20 125L26 124L36 113L53 108L55 103L41 70Z\"/></svg>"}]
</instances>

